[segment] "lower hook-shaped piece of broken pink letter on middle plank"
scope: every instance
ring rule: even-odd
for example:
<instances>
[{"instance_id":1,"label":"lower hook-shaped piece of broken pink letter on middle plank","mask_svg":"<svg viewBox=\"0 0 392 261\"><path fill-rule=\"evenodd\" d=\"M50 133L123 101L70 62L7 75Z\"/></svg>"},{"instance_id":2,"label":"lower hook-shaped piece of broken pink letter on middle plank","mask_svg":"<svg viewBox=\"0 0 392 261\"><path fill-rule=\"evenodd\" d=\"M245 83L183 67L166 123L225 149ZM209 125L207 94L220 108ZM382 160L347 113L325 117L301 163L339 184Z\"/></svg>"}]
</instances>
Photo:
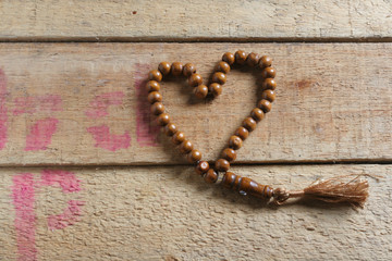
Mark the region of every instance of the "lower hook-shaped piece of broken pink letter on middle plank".
<instances>
[{"instance_id":1,"label":"lower hook-shaped piece of broken pink letter on middle plank","mask_svg":"<svg viewBox=\"0 0 392 261\"><path fill-rule=\"evenodd\" d=\"M96 140L95 147L117 151L119 149L126 149L131 145L130 132L125 132L123 135L110 134L109 127L105 124L88 127L87 132L90 133Z\"/></svg>"}]
</instances>

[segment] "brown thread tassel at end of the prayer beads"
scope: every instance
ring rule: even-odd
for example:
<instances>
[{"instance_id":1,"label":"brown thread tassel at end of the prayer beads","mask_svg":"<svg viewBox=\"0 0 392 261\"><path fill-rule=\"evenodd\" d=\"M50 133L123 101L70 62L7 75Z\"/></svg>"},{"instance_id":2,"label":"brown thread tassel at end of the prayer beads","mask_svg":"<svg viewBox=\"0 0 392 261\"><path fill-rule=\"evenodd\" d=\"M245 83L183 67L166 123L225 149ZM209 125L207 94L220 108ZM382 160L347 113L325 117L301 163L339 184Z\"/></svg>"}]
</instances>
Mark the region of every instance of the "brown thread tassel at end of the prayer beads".
<instances>
[{"instance_id":1,"label":"brown thread tassel at end of the prayer beads","mask_svg":"<svg viewBox=\"0 0 392 261\"><path fill-rule=\"evenodd\" d=\"M277 204L283 204L290 198L304 198L321 200L330 203L346 202L363 208L369 196L369 184L359 175L336 176L326 181L318 179L307 188L299 191L286 191L282 188L273 189L273 198ZM372 176L375 177L375 176ZM350 178L348 182L345 182Z\"/></svg>"}]
</instances>

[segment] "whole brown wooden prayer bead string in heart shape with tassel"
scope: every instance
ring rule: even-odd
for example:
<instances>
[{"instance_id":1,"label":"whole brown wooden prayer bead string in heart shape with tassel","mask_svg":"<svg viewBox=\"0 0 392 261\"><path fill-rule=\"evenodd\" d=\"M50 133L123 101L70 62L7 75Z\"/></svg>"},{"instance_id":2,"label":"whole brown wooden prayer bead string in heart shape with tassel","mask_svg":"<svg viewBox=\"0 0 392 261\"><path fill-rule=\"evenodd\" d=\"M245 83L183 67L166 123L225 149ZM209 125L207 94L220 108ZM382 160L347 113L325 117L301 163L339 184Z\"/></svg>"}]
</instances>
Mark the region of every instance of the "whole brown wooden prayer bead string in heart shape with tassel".
<instances>
[{"instance_id":1,"label":"whole brown wooden prayer bead string in heart shape with tassel","mask_svg":"<svg viewBox=\"0 0 392 261\"><path fill-rule=\"evenodd\" d=\"M201 152L194 148L193 144L186 138L183 132L171 122L171 117L166 113L160 94L160 82L167 76L185 76L188 85L194 88L194 95L199 99L208 97L216 98L222 92L222 86L226 82L226 74L231 66L247 65L249 67L259 67L262 77L261 99L257 107L252 110L250 115L245 117L233 136L229 138L228 147L222 151L213 167L208 161L201 160ZM152 70L148 74L146 88L148 91L148 102L151 103L151 113L157 116L157 123L163 128L167 136L171 137L172 142L184 154L188 162L196 164L196 173L200 175L206 183L220 183L226 188L238 191L241 195L249 195L266 200L273 199L275 204L282 204L290 198L309 197L326 202L348 202L354 206L363 207L368 197L368 182L360 179L360 175L345 175L329 178L326 181L316 181L310 186L298 191L289 191L284 188L272 188L269 185L261 185L249 177L244 177L229 172L230 164L236 159L236 151L242 147L243 141L249 133L255 130L257 123L265 114L271 111L272 102L275 100L277 82L274 80L277 71L272 66L272 59L257 53L246 53L243 50L234 54L226 52L222 57L212 74L208 87L203 84L203 77L196 73L196 66L192 63L182 64L181 62L161 62L158 70ZM222 175L220 175L222 173ZM344 182L344 178L350 178Z\"/></svg>"}]
</instances>

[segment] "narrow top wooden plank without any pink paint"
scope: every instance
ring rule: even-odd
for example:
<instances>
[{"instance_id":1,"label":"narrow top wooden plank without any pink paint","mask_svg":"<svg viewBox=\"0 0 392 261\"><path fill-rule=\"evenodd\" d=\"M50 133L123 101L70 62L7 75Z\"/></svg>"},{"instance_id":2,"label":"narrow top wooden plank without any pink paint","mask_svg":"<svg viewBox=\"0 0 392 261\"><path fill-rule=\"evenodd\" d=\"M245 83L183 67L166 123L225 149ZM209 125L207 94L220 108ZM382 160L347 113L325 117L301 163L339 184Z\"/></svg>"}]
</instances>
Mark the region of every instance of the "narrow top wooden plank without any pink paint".
<instances>
[{"instance_id":1,"label":"narrow top wooden plank without any pink paint","mask_svg":"<svg viewBox=\"0 0 392 261\"><path fill-rule=\"evenodd\" d=\"M390 1L14 1L0 40L390 40Z\"/></svg>"}]
</instances>

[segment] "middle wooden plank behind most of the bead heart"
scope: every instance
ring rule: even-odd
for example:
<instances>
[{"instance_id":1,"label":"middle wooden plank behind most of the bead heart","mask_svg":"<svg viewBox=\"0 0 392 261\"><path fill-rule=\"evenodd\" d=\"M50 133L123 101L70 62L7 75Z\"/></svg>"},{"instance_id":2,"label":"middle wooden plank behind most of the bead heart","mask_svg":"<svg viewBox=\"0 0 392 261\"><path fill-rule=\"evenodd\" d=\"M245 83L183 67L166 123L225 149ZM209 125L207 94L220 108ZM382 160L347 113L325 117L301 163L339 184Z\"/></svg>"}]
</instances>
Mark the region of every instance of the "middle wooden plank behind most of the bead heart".
<instances>
[{"instance_id":1,"label":"middle wooden plank behind most of the bead heart","mask_svg":"<svg viewBox=\"0 0 392 261\"><path fill-rule=\"evenodd\" d=\"M273 57L279 84L238 162L392 159L390 44L2 44L0 164L185 163L150 116L147 73L191 61L207 79L237 49ZM184 79L162 92L207 160L259 96L256 77L237 70L212 102L195 103Z\"/></svg>"}]
</instances>

